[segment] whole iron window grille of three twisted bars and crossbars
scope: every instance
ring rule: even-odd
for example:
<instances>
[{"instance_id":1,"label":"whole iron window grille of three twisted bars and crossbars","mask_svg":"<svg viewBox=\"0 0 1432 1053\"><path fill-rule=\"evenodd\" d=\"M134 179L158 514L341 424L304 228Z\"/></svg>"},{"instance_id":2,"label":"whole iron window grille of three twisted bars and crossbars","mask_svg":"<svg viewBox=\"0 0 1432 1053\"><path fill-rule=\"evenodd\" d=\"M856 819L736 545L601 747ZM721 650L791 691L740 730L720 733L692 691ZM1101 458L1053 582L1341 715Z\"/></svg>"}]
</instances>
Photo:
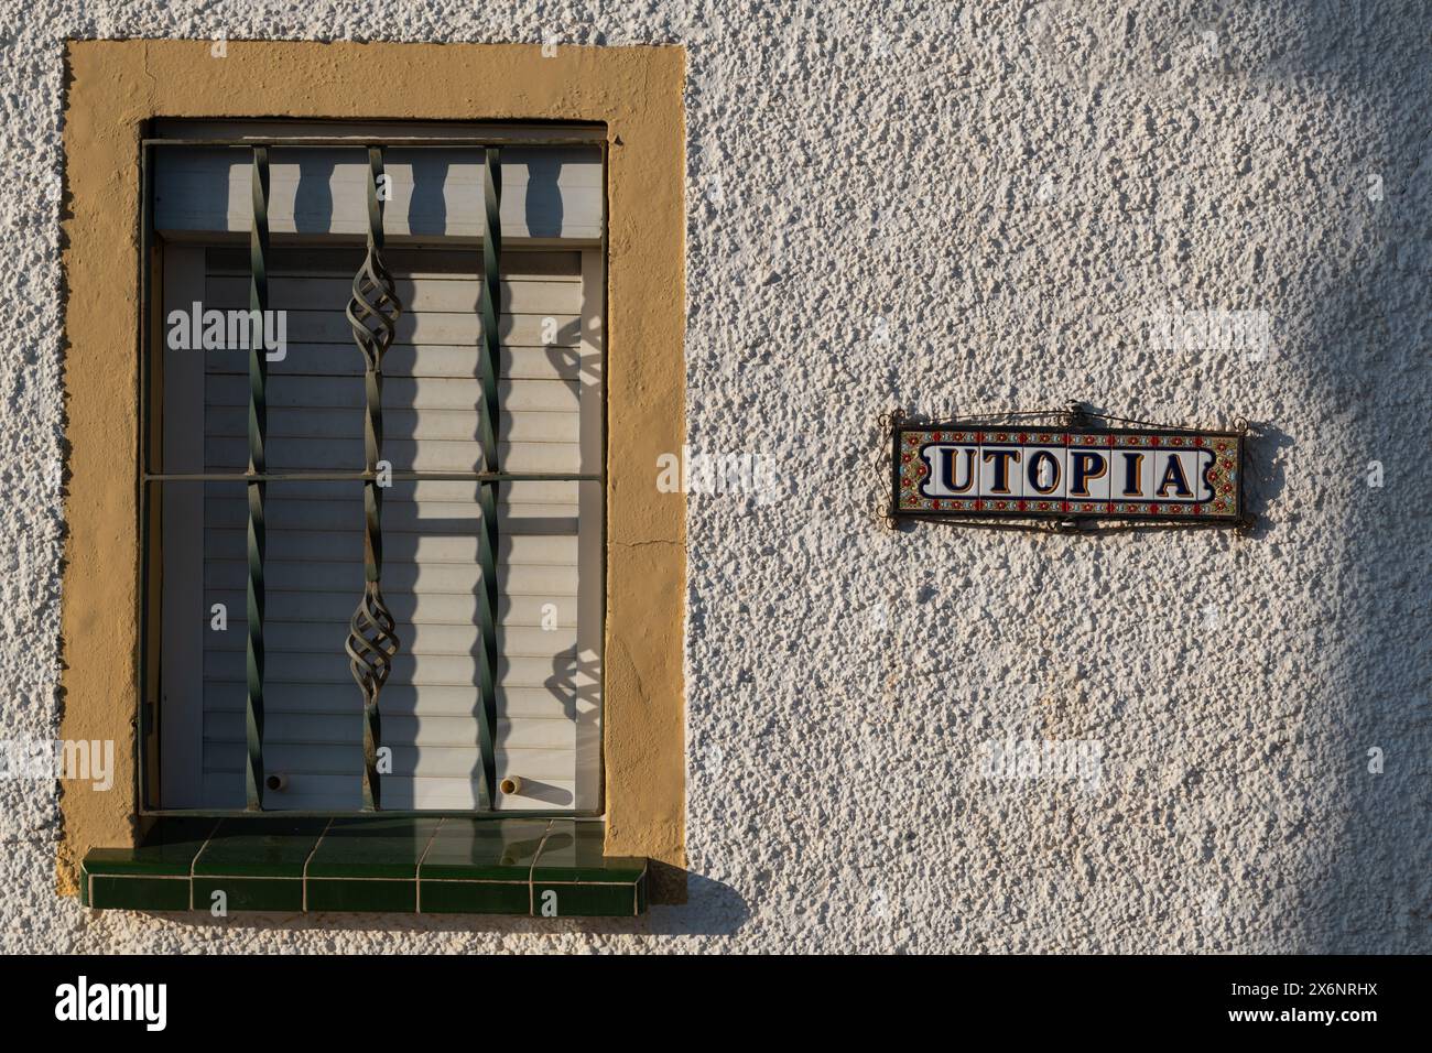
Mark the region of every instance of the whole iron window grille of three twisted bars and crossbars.
<instances>
[{"instance_id":1,"label":"whole iron window grille of three twisted bars and crossbars","mask_svg":"<svg viewBox=\"0 0 1432 1053\"><path fill-rule=\"evenodd\" d=\"M183 145L182 140L147 140L146 146ZM497 734L497 669L498 643L498 494L513 483L600 483L599 473L567 471L504 471L498 446L498 418L503 410L498 397L500 304L503 266L503 145L474 143L464 139L464 148L481 150L481 269L480 269L480 362L481 404L478 410L478 443L481 463L473 471L432 471L417 464L408 470L394 470L384 457L384 357L390 351L400 319L410 305L400 297L387 256L384 231L385 211L385 152L384 143L354 143L335 138L294 138L271 142L215 142L206 148L223 146L251 153L252 219L249 229L249 308L259 315L271 308L269 268L274 248L269 231L272 203L271 149L321 148L332 150L361 150L367 159L367 234L362 264L352 277L347 324L352 334L355 355L361 360L364 377L364 467L352 471L282 470L269 467L269 365L265 348L256 340L248 348L248 463L241 473L231 471L149 471L147 450L143 473L145 491L150 484L165 483L242 483L246 491L246 639L245 639L245 808L263 811L265 795L281 785L279 775L265 765L265 685L266 643L265 616L268 579L268 519L269 483L286 486L316 486L351 481L362 486L362 563L364 585L354 596L348 623L347 656L354 681L355 716L362 726L361 801L364 811L382 808L382 692L404 649L404 633L384 597L384 491L394 483L457 481L478 487L481 530L477 559L481 567L481 648L478 649L478 706L481 781L478 808L490 809L497 798L497 764L494 739ZM444 148L454 140L402 140L404 149ZM147 179L146 179L147 188ZM147 192L147 191L146 191ZM256 315L258 317L258 315ZM281 585L281 583L279 583ZM140 739L143 742L143 736Z\"/></svg>"}]
</instances>

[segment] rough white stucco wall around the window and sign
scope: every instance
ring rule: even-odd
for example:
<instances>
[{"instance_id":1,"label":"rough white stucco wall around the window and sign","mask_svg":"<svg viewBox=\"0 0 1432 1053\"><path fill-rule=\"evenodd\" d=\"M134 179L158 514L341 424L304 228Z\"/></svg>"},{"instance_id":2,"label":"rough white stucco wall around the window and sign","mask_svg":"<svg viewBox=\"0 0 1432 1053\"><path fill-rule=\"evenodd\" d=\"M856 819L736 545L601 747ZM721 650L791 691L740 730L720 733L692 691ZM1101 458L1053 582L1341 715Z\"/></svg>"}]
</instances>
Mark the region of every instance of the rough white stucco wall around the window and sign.
<instances>
[{"instance_id":1,"label":"rough white stucco wall around the window and sign","mask_svg":"<svg viewBox=\"0 0 1432 1053\"><path fill-rule=\"evenodd\" d=\"M6 23L4 738L53 738L63 705L64 37L686 44L689 443L778 481L689 501L687 905L90 914L53 891L54 784L7 779L4 951L1432 950L1418 0L40 0ZM1194 332L1217 312L1267 340ZM1070 398L1253 421L1259 530L886 529L882 413ZM990 778L1010 739L1100 761Z\"/></svg>"}]
</instances>

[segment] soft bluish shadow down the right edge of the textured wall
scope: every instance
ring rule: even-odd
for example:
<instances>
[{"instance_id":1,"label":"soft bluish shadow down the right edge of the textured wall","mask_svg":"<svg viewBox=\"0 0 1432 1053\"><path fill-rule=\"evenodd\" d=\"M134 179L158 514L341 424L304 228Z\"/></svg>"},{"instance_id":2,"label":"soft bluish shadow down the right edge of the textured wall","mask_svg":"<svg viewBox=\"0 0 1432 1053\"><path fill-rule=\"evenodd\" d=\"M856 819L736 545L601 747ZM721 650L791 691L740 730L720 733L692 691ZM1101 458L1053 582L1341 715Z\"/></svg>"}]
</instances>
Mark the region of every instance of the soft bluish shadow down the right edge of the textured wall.
<instances>
[{"instance_id":1,"label":"soft bluish shadow down the right edge of the textured wall","mask_svg":"<svg viewBox=\"0 0 1432 1053\"><path fill-rule=\"evenodd\" d=\"M1326 801L1326 815L1342 825L1310 830L1302 811L1279 817L1282 828L1266 837L1300 845L1295 898L1282 905L1297 925L1286 950L1425 953L1432 946L1425 807L1432 520L1409 454L1421 460L1432 444L1419 401L1426 397L1432 226L1432 140L1421 119L1432 112L1426 13L1370 0L1263 7L1246 16L1247 24L1262 26L1262 40L1276 39L1280 54L1270 70L1252 74L1262 80L1252 87L1295 100L1274 120L1292 149L1313 155L1296 208L1309 246L1319 246L1302 255L1302 274L1280 278L1270 292L1302 281L1300 302L1310 308L1306 317L1285 311L1279 318L1286 337L1274 367L1305 381L1302 401L1319 414L1323 436L1303 437L1302 456L1332 446L1356 458L1339 493L1313 496L1326 499L1326 509L1285 510L1290 523L1316 520L1305 530L1326 539L1327 556L1317 563L1326 580L1310 595L1327 597L1320 606L1332 617L1317 625L1309 612L1309 625L1287 626L1289 636L1302 633L1290 640L1290 659L1313 670L1299 699L1306 718L1300 735L1267 744L1264 761L1286 768L1290 779L1320 782L1306 798ZM1305 130L1315 122L1299 116L1309 96L1346 107L1348 125L1366 122L1359 132L1369 140L1366 153L1355 152L1353 170L1335 173L1333 186L1313 182L1326 173L1315 175L1316 143L1305 142L1315 135ZM1315 203L1315 195L1327 201ZM1266 431L1256 463L1269 466L1266 443L1282 448L1280 440L1286 436ZM1369 484L1372 461L1385 461L1380 487ZM1262 480L1250 481L1256 493ZM1254 867L1249 877L1274 884L1279 875Z\"/></svg>"}]
</instances>

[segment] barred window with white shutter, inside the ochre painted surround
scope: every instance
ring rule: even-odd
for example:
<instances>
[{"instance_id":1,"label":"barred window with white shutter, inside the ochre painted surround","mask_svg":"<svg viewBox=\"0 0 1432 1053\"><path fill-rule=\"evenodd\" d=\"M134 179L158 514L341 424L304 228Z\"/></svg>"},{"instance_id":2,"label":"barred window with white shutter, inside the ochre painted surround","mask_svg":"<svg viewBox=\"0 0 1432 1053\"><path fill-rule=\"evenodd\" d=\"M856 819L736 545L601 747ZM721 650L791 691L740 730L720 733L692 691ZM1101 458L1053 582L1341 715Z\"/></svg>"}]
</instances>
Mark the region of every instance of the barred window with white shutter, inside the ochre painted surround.
<instances>
[{"instance_id":1,"label":"barred window with white shutter, inside the ochre painted surround","mask_svg":"<svg viewBox=\"0 0 1432 1053\"><path fill-rule=\"evenodd\" d=\"M155 135L150 807L599 812L600 133Z\"/></svg>"}]
</instances>

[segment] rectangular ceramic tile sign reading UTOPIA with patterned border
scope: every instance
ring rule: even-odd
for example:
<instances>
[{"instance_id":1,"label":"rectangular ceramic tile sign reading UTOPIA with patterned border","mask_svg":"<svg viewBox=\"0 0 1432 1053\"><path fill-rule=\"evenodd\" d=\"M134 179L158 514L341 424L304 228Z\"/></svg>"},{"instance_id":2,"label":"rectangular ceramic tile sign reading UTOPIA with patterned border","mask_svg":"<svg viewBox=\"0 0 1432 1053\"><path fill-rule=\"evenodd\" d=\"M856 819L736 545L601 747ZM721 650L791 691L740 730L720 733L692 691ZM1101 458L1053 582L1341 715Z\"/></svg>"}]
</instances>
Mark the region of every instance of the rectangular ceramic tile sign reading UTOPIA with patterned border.
<instances>
[{"instance_id":1,"label":"rectangular ceramic tile sign reading UTOPIA with patterned border","mask_svg":"<svg viewBox=\"0 0 1432 1053\"><path fill-rule=\"evenodd\" d=\"M1240 433L899 423L894 440L895 519L1243 516Z\"/></svg>"}]
</instances>

